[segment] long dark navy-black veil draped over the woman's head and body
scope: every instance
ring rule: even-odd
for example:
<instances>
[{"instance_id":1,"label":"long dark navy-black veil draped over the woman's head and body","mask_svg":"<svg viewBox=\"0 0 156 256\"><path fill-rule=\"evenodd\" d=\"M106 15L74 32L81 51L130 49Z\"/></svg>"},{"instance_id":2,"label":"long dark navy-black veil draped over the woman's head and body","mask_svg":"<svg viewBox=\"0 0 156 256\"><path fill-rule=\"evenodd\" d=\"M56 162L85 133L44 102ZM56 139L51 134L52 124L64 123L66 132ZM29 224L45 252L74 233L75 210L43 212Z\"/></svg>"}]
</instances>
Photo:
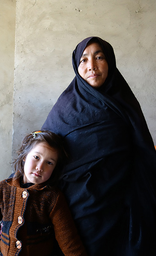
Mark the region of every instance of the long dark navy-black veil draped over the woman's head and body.
<instances>
[{"instance_id":1,"label":"long dark navy-black veil draped over the woman's head and body","mask_svg":"<svg viewBox=\"0 0 156 256\"><path fill-rule=\"evenodd\" d=\"M108 77L95 89L78 74L93 37L73 52L75 78L42 129L64 137L70 153L60 188L89 256L156 255L156 151L140 105L99 37Z\"/></svg>"}]
</instances>

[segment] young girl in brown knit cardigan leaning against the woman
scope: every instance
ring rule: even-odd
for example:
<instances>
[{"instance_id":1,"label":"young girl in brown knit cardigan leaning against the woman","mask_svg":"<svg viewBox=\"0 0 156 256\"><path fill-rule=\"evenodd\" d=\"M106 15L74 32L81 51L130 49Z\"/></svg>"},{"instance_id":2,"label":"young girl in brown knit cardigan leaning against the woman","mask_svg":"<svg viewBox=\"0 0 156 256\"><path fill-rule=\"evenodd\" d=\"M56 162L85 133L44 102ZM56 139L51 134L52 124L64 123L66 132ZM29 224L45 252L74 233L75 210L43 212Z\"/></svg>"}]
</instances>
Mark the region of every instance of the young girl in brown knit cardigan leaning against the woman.
<instances>
[{"instance_id":1,"label":"young girl in brown knit cardigan leaning against the woman","mask_svg":"<svg viewBox=\"0 0 156 256\"><path fill-rule=\"evenodd\" d=\"M49 131L25 136L14 177L0 182L2 256L50 256L56 237L66 256L86 256L71 213L56 183L66 152Z\"/></svg>"}]
</instances>

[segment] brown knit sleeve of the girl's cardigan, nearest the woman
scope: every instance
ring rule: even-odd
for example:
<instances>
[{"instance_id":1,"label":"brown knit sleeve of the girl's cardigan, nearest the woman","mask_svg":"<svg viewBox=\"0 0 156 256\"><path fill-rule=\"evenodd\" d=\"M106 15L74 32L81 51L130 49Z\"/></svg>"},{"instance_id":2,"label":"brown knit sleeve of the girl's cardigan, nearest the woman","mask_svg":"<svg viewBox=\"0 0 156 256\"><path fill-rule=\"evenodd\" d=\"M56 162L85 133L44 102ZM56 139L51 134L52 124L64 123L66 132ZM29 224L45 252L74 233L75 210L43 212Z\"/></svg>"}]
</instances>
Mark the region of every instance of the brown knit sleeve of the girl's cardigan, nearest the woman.
<instances>
[{"instance_id":1,"label":"brown knit sleeve of the girl's cardigan, nearest the woman","mask_svg":"<svg viewBox=\"0 0 156 256\"><path fill-rule=\"evenodd\" d=\"M53 223L55 237L64 255L87 256L62 193L58 194L50 218Z\"/></svg>"}]
</instances>

